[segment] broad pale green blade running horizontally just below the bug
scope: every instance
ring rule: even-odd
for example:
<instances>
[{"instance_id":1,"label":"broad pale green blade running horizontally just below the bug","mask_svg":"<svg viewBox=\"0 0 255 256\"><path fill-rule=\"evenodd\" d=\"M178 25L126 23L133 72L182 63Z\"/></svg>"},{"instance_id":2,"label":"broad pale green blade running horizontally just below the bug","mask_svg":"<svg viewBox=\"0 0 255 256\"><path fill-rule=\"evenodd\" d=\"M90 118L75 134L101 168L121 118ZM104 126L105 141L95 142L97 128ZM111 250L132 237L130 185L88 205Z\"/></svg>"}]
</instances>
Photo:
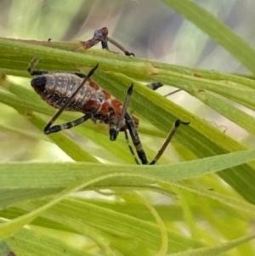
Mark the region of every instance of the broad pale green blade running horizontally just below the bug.
<instances>
[{"instance_id":1,"label":"broad pale green blade running horizontally just below the bug","mask_svg":"<svg viewBox=\"0 0 255 256\"><path fill-rule=\"evenodd\" d=\"M88 162L55 162L33 163L12 162L0 163L0 186L2 189L17 188L63 188L74 179L88 179L90 175L99 175L111 172L132 171L133 174L150 174L159 179L178 181L190 179L202 174L212 174L225 168L231 168L244 162L252 161L255 151L238 151L219 156L210 156L188 162L174 162L168 165L136 166L110 165ZM26 177L26 179L25 179ZM56 179L55 177L58 177ZM22 182L20 182L22 180ZM105 181L101 185L143 185L146 180L141 178L118 178Z\"/></svg>"}]
</instances>

